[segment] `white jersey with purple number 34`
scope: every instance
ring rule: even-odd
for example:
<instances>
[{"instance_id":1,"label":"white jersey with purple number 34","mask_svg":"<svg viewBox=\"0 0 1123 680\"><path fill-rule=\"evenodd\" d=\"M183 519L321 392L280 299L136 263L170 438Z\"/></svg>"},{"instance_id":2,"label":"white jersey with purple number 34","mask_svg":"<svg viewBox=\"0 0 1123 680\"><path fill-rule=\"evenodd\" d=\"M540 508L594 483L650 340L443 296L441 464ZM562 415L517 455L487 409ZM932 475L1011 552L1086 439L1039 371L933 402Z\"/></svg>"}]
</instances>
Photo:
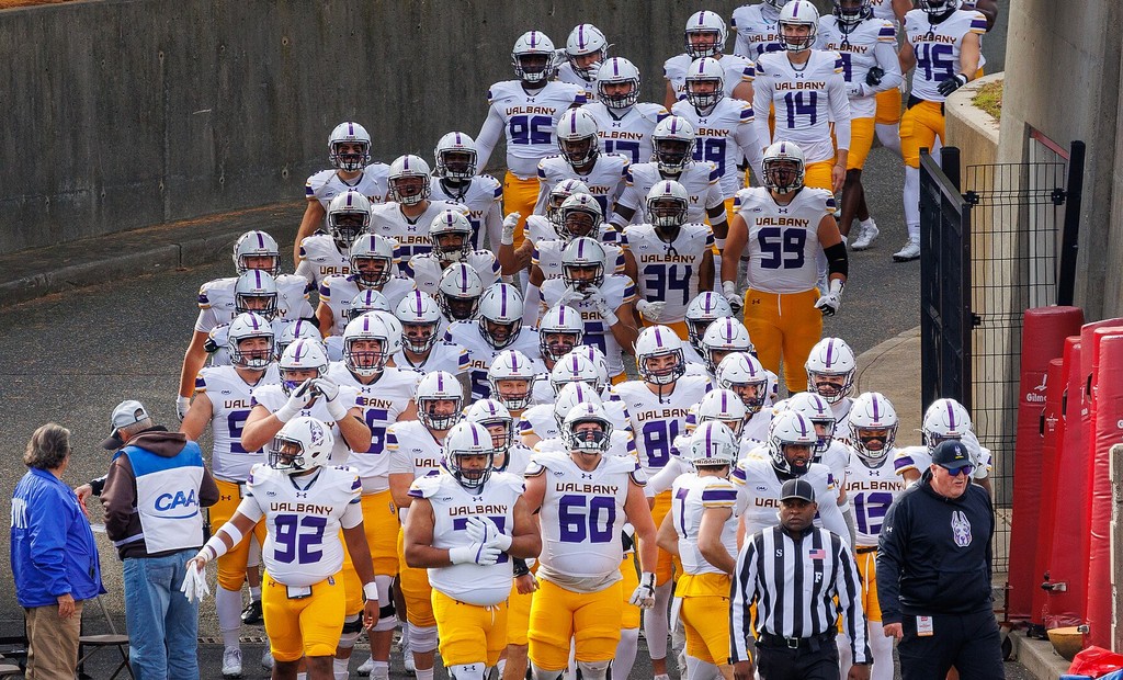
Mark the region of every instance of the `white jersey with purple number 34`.
<instances>
[{"instance_id":1,"label":"white jersey with purple number 34","mask_svg":"<svg viewBox=\"0 0 1123 680\"><path fill-rule=\"evenodd\" d=\"M639 294L649 302L666 302L660 324L686 319L686 308L699 294L702 261L713 253L713 232L709 225L687 223L673 242L659 238L649 224L629 225L624 241L639 272ZM706 289L712 289L713 283Z\"/></svg>"}]
</instances>

